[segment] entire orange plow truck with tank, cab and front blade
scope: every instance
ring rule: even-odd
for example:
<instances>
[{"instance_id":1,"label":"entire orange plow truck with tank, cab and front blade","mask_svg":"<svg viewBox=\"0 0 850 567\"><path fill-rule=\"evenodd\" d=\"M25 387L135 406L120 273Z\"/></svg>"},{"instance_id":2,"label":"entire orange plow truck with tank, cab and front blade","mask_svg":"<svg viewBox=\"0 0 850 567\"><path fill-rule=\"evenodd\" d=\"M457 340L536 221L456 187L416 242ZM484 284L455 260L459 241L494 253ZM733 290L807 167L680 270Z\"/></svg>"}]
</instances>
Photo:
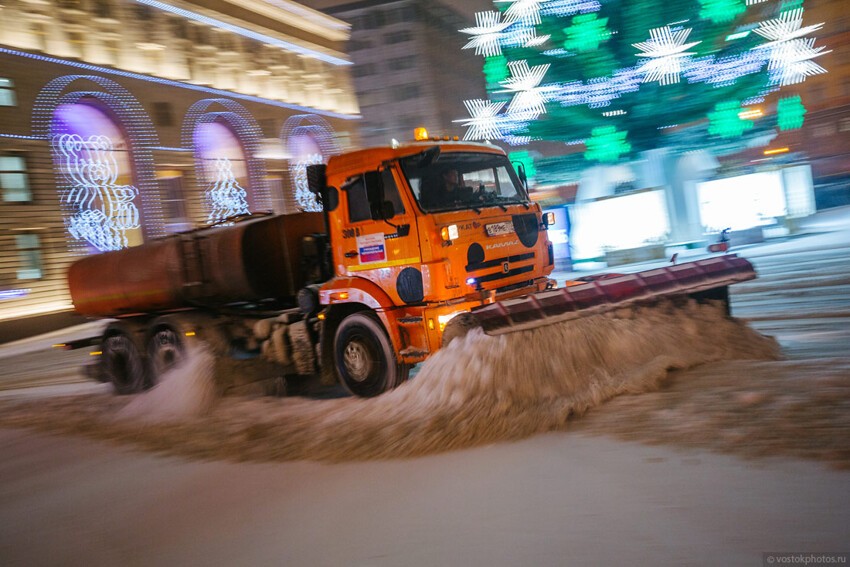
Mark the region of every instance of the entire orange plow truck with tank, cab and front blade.
<instances>
[{"instance_id":1,"label":"entire orange plow truck with tank, cab and front blade","mask_svg":"<svg viewBox=\"0 0 850 567\"><path fill-rule=\"evenodd\" d=\"M74 263L76 310L112 319L95 375L138 392L203 344L224 391L338 381L376 396L472 327L499 334L669 295L728 306L728 285L755 277L726 255L558 288L552 216L489 144L364 149L307 177L321 213L254 215Z\"/></svg>"}]
</instances>

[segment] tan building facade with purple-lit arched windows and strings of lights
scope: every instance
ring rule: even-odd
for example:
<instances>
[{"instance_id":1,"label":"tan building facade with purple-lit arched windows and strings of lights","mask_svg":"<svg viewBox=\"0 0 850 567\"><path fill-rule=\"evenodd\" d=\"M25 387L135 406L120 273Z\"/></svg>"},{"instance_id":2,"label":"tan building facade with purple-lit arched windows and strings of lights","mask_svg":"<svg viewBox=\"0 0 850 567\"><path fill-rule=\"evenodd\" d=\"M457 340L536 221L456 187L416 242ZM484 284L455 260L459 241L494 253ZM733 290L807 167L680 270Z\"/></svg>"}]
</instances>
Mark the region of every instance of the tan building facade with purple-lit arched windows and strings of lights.
<instances>
[{"instance_id":1,"label":"tan building facade with purple-lit arched windows and strings of lights","mask_svg":"<svg viewBox=\"0 0 850 567\"><path fill-rule=\"evenodd\" d=\"M0 6L0 319L70 307L85 254L316 207L357 144L349 26L288 0Z\"/></svg>"}]
</instances>

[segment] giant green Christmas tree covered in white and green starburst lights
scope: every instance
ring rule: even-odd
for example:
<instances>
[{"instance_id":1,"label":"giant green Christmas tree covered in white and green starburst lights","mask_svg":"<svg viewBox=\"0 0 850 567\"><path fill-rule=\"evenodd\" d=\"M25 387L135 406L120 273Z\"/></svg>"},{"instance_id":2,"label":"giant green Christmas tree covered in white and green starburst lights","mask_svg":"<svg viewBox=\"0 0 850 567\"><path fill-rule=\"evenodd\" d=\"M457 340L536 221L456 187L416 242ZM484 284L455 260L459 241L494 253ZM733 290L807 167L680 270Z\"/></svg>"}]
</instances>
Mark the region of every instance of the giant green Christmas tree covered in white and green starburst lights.
<instances>
[{"instance_id":1,"label":"giant green Christmas tree covered in white and green starburst lights","mask_svg":"<svg viewBox=\"0 0 850 567\"><path fill-rule=\"evenodd\" d=\"M670 145L728 142L799 127L795 93L825 70L802 0L496 0L468 49L484 57L489 100L467 101L466 139L584 144L589 162ZM780 100L781 99L781 100ZM727 144L728 145L728 144Z\"/></svg>"}]
</instances>

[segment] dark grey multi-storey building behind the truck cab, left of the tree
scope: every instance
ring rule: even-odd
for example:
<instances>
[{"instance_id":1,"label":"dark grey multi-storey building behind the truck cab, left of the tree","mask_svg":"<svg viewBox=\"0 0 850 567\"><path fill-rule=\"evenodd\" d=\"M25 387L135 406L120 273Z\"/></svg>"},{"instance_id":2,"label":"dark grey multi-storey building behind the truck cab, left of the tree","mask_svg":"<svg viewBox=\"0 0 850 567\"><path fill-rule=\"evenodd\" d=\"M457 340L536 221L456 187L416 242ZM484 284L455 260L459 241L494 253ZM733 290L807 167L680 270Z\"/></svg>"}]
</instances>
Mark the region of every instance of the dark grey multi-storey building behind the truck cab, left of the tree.
<instances>
[{"instance_id":1,"label":"dark grey multi-storey building behind the truck cab, left of the tree","mask_svg":"<svg viewBox=\"0 0 850 567\"><path fill-rule=\"evenodd\" d=\"M464 50L471 22L438 2L365 0L324 8L351 24L348 52L363 115L364 145L432 135L462 135L464 100L484 99L482 59Z\"/></svg>"}]
</instances>

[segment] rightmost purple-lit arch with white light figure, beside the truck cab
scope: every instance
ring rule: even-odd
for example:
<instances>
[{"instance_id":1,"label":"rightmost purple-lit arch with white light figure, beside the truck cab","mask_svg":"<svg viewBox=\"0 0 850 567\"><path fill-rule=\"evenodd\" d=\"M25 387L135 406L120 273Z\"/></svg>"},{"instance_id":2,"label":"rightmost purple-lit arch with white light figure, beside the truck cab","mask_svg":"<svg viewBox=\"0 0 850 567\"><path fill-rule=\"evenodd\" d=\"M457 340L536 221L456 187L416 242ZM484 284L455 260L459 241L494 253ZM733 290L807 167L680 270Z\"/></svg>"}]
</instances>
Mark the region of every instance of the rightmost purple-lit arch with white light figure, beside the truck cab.
<instances>
[{"instance_id":1,"label":"rightmost purple-lit arch with white light figure, beside the truck cab","mask_svg":"<svg viewBox=\"0 0 850 567\"><path fill-rule=\"evenodd\" d=\"M284 122L280 138L292 156L289 171L294 186L295 206L307 212L321 211L321 203L309 190L307 166L324 163L327 158L339 153L333 128L321 116L302 114L292 116ZM318 146L318 152L313 151L312 144Z\"/></svg>"}]
</instances>

